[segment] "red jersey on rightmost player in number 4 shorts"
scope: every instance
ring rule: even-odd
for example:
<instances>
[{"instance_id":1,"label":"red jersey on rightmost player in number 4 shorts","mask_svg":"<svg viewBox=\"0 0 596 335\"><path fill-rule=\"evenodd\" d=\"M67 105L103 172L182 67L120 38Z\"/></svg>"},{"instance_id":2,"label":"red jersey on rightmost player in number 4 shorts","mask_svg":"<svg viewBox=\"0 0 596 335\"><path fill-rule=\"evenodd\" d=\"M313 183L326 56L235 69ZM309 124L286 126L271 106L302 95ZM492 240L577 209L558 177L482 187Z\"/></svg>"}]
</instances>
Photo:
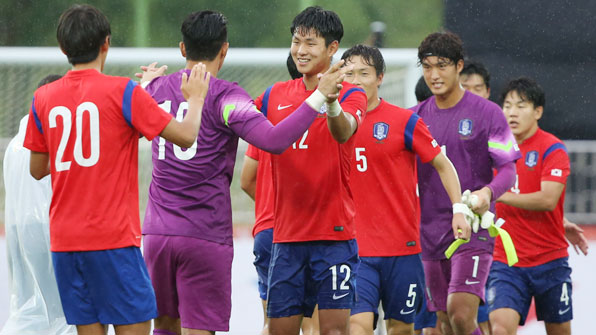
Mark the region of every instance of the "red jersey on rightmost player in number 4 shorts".
<instances>
[{"instance_id":1,"label":"red jersey on rightmost player in number 4 shorts","mask_svg":"<svg viewBox=\"0 0 596 335\"><path fill-rule=\"evenodd\" d=\"M569 156L565 145L554 135L538 129L519 149L523 159L516 163L517 179L510 190L514 193L540 191L543 181L565 184L569 175ZM530 211L497 203L497 216L506 220L519 262L515 266L541 265L568 256L563 228L565 189L553 211ZM496 239L494 259L507 263L500 238Z\"/></svg>"}]
</instances>

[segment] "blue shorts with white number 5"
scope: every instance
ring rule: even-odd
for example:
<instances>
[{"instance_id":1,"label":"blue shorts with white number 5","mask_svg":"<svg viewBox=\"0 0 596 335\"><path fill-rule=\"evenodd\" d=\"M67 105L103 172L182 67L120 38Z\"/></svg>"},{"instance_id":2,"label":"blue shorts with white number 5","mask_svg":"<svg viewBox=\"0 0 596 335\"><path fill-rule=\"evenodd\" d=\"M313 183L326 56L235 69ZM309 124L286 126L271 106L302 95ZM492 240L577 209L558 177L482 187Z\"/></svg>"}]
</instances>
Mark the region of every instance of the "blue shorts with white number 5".
<instances>
[{"instance_id":1,"label":"blue shorts with white number 5","mask_svg":"<svg viewBox=\"0 0 596 335\"><path fill-rule=\"evenodd\" d=\"M414 323L424 300L424 269L420 254L362 257L360 261L357 300L352 315L373 312L376 319L380 301L385 320Z\"/></svg>"}]
</instances>

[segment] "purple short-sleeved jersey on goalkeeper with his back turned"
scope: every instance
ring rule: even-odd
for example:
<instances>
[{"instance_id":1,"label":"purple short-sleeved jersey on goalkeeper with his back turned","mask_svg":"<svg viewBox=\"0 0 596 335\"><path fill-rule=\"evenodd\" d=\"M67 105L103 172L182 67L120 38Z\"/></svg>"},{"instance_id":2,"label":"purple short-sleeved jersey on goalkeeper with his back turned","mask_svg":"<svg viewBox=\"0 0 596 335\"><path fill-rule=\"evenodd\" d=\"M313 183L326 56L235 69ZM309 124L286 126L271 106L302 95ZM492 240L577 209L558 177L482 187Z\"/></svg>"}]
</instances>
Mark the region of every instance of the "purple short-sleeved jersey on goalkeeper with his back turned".
<instances>
[{"instance_id":1,"label":"purple short-sleeved jersey on goalkeeper with his back turned","mask_svg":"<svg viewBox=\"0 0 596 335\"><path fill-rule=\"evenodd\" d=\"M182 120L188 103L180 91L180 70L153 80L147 91L168 113ZM143 234L176 235L232 245L230 182L238 137L251 120L263 119L252 98L238 86L211 78L197 142L183 149L153 140L153 174Z\"/></svg>"}]
</instances>

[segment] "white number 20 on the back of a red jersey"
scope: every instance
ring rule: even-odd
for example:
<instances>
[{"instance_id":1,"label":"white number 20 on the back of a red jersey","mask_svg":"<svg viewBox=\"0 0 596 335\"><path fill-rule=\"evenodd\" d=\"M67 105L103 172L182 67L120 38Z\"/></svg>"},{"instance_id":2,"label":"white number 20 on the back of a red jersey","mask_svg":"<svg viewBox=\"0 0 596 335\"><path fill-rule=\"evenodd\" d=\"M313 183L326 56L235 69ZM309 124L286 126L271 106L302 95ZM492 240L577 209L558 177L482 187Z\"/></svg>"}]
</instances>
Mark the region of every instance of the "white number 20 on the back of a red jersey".
<instances>
[{"instance_id":1,"label":"white number 20 on the back of a red jersey","mask_svg":"<svg viewBox=\"0 0 596 335\"><path fill-rule=\"evenodd\" d=\"M89 116L89 144L91 152L89 157L85 158L83 155L83 117L85 114ZM58 144L56 151L56 160L54 165L56 171L65 171L70 169L70 161L62 161L64 151L70 138L70 130L72 128L72 112L64 106L56 106L50 110L49 123L50 128L56 128L58 116L62 119L62 137ZM73 157L75 162L83 167L89 167L97 164L99 161L99 110L92 102L83 102L77 107L75 112L75 145L73 149Z\"/></svg>"}]
</instances>

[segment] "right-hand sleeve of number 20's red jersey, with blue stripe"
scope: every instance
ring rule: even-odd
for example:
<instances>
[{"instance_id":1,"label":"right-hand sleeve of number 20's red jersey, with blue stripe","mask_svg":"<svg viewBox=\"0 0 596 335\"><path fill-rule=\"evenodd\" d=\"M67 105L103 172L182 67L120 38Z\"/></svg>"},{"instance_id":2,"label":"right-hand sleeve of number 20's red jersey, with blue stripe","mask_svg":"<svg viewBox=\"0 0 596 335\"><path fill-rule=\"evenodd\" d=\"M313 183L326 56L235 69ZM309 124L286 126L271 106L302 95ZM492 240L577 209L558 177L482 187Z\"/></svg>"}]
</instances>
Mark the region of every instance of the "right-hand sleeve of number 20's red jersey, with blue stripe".
<instances>
[{"instance_id":1,"label":"right-hand sleeve of number 20's red jersey, with blue stripe","mask_svg":"<svg viewBox=\"0 0 596 335\"><path fill-rule=\"evenodd\" d=\"M164 130L173 116L161 109L140 86L132 84L131 88L131 83L134 82L131 80L124 91L122 113L133 128L152 140ZM128 95L130 105L126 103Z\"/></svg>"}]
</instances>

